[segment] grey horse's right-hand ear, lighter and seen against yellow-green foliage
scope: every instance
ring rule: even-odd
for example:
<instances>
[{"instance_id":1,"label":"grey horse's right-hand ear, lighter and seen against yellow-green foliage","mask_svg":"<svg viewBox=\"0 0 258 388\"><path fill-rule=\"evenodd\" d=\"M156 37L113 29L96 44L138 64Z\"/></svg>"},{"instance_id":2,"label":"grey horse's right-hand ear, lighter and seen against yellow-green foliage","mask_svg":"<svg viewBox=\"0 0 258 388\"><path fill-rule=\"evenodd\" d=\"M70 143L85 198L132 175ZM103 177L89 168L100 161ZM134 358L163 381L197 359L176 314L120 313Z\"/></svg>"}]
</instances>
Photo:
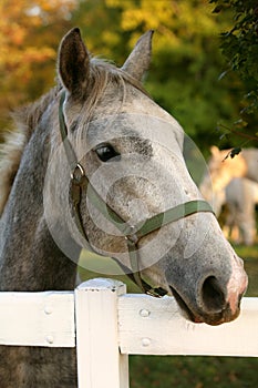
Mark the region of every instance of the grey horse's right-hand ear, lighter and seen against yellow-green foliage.
<instances>
[{"instance_id":1,"label":"grey horse's right-hand ear, lighter and seen against yellow-green foliage","mask_svg":"<svg viewBox=\"0 0 258 388\"><path fill-rule=\"evenodd\" d=\"M149 68L153 32L153 30L149 30L138 39L133 51L122 67L122 70L126 71L138 81L142 80L144 73Z\"/></svg>"}]
</instances>

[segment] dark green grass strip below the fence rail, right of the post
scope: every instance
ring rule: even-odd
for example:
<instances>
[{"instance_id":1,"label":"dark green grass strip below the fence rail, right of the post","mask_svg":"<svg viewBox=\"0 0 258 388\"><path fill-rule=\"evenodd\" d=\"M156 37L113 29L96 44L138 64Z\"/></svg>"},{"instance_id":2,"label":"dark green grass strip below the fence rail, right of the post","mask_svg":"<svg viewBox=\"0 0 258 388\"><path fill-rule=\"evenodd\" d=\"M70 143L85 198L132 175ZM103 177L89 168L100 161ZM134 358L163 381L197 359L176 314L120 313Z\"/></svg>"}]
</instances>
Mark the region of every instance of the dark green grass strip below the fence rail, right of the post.
<instances>
[{"instance_id":1,"label":"dark green grass strip below the fence rail, right of the post","mask_svg":"<svg viewBox=\"0 0 258 388\"><path fill-rule=\"evenodd\" d=\"M230 357L130 358L132 388L254 388L257 360Z\"/></svg>"}]
</instances>

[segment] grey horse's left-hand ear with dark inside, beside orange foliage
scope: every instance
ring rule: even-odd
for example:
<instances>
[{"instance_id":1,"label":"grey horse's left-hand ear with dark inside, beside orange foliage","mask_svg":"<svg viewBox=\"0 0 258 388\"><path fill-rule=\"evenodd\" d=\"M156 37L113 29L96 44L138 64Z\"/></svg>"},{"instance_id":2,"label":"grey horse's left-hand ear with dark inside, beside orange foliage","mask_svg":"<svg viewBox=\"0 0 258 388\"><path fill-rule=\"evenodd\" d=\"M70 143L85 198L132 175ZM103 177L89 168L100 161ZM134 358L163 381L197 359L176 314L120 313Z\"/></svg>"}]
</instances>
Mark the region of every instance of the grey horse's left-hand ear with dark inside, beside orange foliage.
<instances>
[{"instance_id":1,"label":"grey horse's left-hand ear with dark inside, beside orange foliage","mask_svg":"<svg viewBox=\"0 0 258 388\"><path fill-rule=\"evenodd\" d=\"M83 43L79 28L64 35L59 49L59 76L63 85L75 96L80 96L87 84L90 54Z\"/></svg>"}]
</instances>

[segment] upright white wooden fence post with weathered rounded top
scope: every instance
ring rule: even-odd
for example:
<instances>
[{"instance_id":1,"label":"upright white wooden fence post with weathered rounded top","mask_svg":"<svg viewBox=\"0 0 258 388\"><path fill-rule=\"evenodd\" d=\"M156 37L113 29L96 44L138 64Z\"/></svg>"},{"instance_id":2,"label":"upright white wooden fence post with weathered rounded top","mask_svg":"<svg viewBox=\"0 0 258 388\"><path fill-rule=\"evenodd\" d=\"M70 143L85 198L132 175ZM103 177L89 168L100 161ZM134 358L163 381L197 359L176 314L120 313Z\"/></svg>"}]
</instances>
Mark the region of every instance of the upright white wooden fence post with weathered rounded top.
<instances>
[{"instance_id":1,"label":"upright white wooden fence post with weathered rounded top","mask_svg":"<svg viewBox=\"0 0 258 388\"><path fill-rule=\"evenodd\" d=\"M123 283L96 278L75 289L79 388L128 388L128 356L118 348L117 297Z\"/></svg>"}]
</instances>

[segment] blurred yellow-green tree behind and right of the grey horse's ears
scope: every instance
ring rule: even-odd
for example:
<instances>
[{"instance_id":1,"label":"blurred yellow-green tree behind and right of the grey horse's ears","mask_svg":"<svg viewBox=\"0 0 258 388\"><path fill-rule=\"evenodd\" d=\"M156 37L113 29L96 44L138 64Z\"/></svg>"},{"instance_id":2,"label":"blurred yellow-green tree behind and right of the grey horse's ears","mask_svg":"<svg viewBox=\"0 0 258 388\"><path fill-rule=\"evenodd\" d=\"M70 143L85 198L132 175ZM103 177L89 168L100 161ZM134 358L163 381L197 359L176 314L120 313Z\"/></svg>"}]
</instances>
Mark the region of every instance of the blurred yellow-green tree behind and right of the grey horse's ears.
<instances>
[{"instance_id":1,"label":"blurred yellow-green tree behind and right of the grey horse's ears","mask_svg":"<svg viewBox=\"0 0 258 388\"><path fill-rule=\"evenodd\" d=\"M87 0L73 13L93 53L122 64L136 39L154 29L153 63L146 88L186 132L207 149L227 144L217 123L238 116L240 81L219 80L224 59L219 34L230 25L207 0ZM233 93L231 93L233 92ZM223 132L224 134L224 132Z\"/></svg>"}]
</instances>

